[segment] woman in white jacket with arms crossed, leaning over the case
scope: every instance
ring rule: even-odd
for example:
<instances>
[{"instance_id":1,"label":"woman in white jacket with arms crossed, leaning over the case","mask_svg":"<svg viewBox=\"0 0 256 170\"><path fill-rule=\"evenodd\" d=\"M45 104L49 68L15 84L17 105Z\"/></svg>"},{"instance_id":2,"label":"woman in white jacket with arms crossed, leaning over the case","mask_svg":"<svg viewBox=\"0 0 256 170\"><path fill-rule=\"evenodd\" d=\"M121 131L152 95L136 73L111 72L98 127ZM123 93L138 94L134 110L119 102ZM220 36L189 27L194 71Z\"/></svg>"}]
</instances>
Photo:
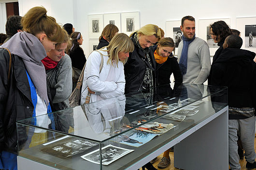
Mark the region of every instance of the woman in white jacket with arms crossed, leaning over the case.
<instances>
[{"instance_id":1,"label":"woman in white jacket with arms crossed, leaning over the case","mask_svg":"<svg viewBox=\"0 0 256 170\"><path fill-rule=\"evenodd\" d=\"M113 37L107 47L93 51L89 55L85 65L81 105L85 104L88 93L91 93L90 102L124 94L123 64L126 63L129 52L133 50L134 45L130 38L126 34L120 33ZM103 56L103 67L100 72L101 55Z\"/></svg>"}]
</instances>

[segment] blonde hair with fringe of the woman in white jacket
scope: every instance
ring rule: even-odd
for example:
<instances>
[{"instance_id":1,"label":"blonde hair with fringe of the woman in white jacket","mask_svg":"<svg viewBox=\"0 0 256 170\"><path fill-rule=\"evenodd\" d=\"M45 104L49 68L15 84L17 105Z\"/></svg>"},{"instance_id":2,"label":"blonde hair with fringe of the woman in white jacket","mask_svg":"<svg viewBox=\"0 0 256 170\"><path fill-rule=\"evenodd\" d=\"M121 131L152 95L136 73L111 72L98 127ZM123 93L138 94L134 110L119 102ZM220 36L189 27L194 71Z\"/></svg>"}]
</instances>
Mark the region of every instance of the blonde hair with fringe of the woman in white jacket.
<instances>
[{"instance_id":1,"label":"blonde hair with fringe of the woman in white jacket","mask_svg":"<svg viewBox=\"0 0 256 170\"><path fill-rule=\"evenodd\" d=\"M100 50L102 50L101 48ZM134 45L131 39L124 33L116 34L109 45L107 46L109 59L107 61L108 64L113 64L112 61L115 61L116 66L118 67L118 52L132 52L134 50ZM125 59L123 64L127 62L128 59Z\"/></svg>"}]
</instances>

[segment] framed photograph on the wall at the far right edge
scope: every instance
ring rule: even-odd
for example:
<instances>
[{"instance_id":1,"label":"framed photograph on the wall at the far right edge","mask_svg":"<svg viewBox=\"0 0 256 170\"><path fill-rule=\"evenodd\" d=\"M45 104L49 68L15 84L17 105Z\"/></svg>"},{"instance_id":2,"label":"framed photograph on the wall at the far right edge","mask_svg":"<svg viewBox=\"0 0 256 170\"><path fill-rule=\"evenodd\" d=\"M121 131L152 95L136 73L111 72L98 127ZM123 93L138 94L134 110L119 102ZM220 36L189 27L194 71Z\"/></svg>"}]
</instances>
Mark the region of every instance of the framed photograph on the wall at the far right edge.
<instances>
[{"instance_id":1,"label":"framed photograph on the wall at the far right edge","mask_svg":"<svg viewBox=\"0 0 256 170\"><path fill-rule=\"evenodd\" d=\"M256 52L256 17L237 18L236 29L241 32L242 49Z\"/></svg>"}]
</instances>

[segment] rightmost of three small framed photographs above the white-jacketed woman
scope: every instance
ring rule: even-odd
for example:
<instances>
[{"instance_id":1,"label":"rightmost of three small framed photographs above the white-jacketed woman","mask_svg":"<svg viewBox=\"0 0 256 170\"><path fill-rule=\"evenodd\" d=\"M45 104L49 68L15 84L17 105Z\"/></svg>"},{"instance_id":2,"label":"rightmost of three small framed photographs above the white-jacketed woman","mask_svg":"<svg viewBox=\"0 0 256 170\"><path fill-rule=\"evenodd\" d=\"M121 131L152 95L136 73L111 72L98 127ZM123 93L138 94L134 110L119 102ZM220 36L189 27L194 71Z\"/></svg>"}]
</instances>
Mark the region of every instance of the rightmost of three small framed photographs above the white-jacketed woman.
<instances>
[{"instance_id":1,"label":"rightmost of three small framed photographs above the white-jacketed woman","mask_svg":"<svg viewBox=\"0 0 256 170\"><path fill-rule=\"evenodd\" d=\"M140 12L123 12L121 13L121 30L128 36L135 30L140 29Z\"/></svg>"}]
</instances>

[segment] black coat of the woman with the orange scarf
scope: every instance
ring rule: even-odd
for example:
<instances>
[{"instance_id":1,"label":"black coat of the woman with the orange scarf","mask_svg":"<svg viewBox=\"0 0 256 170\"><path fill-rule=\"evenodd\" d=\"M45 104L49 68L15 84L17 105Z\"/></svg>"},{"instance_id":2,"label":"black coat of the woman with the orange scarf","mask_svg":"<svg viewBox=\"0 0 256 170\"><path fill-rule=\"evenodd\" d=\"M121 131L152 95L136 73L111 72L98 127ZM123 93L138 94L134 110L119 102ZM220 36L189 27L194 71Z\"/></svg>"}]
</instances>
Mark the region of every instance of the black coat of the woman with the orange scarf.
<instances>
[{"instance_id":1,"label":"black coat of the woman with the orange scarf","mask_svg":"<svg viewBox=\"0 0 256 170\"><path fill-rule=\"evenodd\" d=\"M150 48L154 52L157 46L152 46ZM182 74L176 57L168 57L167 61L162 64L158 64L156 62L156 85L170 84L170 77L172 73L175 83L182 84Z\"/></svg>"}]
</instances>

